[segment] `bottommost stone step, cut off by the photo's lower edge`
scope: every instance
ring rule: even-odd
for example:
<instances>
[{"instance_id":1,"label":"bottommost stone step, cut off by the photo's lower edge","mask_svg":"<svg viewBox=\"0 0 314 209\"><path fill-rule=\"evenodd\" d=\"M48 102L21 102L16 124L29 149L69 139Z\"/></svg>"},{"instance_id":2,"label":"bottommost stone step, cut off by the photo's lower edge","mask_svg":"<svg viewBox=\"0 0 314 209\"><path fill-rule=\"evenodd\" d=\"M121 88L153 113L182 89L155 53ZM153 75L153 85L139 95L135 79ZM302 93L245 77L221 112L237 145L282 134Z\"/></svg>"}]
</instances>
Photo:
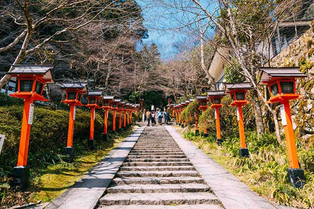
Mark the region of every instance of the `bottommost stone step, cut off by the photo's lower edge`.
<instances>
[{"instance_id":1,"label":"bottommost stone step, cut off by the photo's lower edge","mask_svg":"<svg viewBox=\"0 0 314 209\"><path fill-rule=\"evenodd\" d=\"M101 207L103 208L103 207ZM194 204L194 205L112 205L105 206L104 209L223 209L214 204Z\"/></svg>"}]
</instances>

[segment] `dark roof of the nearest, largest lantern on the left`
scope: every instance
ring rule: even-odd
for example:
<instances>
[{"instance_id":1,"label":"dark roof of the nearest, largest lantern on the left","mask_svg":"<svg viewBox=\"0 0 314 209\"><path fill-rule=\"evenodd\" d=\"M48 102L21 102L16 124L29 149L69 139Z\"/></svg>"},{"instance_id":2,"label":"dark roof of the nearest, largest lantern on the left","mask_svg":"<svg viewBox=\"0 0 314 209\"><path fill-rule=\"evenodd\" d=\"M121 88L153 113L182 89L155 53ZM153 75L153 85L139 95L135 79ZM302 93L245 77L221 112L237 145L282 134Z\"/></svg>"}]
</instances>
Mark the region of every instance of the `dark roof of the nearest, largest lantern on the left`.
<instances>
[{"instance_id":1,"label":"dark roof of the nearest, largest lantern on the left","mask_svg":"<svg viewBox=\"0 0 314 209\"><path fill-rule=\"evenodd\" d=\"M52 72L54 65L12 65L12 70L7 72L9 75L31 74L43 75L46 83L54 83L52 80Z\"/></svg>"}]
</instances>

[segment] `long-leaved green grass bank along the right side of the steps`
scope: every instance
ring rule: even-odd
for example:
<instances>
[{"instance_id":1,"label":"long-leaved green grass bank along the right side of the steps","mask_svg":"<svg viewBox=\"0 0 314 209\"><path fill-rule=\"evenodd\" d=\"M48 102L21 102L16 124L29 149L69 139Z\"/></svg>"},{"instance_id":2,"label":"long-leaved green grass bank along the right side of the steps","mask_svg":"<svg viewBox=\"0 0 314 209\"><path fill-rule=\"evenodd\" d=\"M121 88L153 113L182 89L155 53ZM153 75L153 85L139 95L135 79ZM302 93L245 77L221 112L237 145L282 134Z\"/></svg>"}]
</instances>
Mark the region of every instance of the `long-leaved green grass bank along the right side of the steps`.
<instances>
[{"instance_id":1,"label":"long-leaved green grass bank along the right side of the steps","mask_svg":"<svg viewBox=\"0 0 314 209\"><path fill-rule=\"evenodd\" d=\"M314 206L313 147L306 147L297 140L299 162L307 180L304 188L298 189L293 188L288 182L285 142L278 144L271 134L258 138L255 131L247 131L246 141L251 157L240 158L238 157L239 139L234 133L232 131L228 136L224 136L225 142L220 146L217 145L214 134L204 138L188 132L183 136L270 202L299 209L309 209Z\"/></svg>"}]
</instances>

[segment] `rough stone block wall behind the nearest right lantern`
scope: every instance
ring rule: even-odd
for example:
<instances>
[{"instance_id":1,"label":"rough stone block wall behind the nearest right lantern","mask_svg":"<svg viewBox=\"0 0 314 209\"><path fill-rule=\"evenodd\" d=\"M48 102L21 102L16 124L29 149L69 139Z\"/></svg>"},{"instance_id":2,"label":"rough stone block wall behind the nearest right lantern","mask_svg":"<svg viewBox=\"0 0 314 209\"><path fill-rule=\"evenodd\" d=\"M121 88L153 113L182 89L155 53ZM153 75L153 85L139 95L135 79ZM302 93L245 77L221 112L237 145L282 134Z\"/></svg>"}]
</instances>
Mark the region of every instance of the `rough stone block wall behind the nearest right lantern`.
<instances>
[{"instance_id":1,"label":"rough stone block wall behind the nearest right lantern","mask_svg":"<svg viewBox=\"0 0 314 209\"><path fill-rule=\"evenodd\" d=\"M290 106L296 137L311 147L314 143L314 22L309 31L273 58L271 66L300 66L308 75L296 83L296 92L306 97L291 101Z\"/></svg>"}]
</instances>

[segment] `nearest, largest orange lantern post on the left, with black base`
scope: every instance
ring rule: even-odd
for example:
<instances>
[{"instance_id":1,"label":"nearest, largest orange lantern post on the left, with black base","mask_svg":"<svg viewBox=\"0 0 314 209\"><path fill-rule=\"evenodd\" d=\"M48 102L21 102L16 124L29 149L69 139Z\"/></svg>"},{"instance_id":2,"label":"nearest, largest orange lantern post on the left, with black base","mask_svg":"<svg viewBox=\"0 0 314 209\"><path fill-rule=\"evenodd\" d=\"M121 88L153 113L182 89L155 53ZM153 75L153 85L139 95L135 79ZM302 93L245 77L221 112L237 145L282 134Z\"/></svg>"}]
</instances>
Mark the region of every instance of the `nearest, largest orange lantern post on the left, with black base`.
<instances>
[{"instance_id":1,"label":"nearest, largest orange lantern post on the left, with black base","mask_svg":"<svg viewBox=\"0 0 314 209\"><path fill-rule=\"evenodd\" d=\"M27 166L30 127L33 123L34 100L48 101L42 94L46 83L53 83L53 65L13 65L6 74L17 78L17 92L10 96L24 99L24 111L17 166L13 168L13 184L26 189L29 166Z\"/></svg>"}]
</instances>

